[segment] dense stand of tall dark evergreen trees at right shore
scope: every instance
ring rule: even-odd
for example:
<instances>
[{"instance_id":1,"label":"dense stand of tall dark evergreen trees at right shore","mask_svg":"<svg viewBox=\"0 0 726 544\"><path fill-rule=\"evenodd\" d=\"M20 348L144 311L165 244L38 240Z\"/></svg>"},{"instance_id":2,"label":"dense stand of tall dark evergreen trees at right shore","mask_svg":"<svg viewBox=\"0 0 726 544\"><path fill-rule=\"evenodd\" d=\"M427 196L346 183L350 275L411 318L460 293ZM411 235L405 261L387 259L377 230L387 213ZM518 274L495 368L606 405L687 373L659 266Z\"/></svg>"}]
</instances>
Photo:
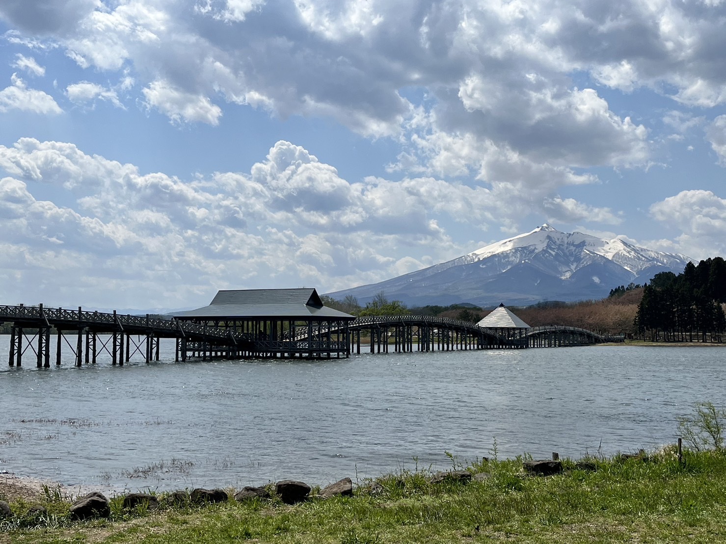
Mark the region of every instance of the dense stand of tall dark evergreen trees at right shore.
<instances>
[{"instance_id":1,"label":"dense stand of tall dark evergreen trees at right shore","mask_svg":"<svg viewBox=\"0 0 726 544\"><path fill-rule=\"evenodd\" d=\"M726 330L726 262L688 263L682 273L661 272L643 288L635 315L638 333L651 342L721 342Z\"/></svg>"}]
</instances>

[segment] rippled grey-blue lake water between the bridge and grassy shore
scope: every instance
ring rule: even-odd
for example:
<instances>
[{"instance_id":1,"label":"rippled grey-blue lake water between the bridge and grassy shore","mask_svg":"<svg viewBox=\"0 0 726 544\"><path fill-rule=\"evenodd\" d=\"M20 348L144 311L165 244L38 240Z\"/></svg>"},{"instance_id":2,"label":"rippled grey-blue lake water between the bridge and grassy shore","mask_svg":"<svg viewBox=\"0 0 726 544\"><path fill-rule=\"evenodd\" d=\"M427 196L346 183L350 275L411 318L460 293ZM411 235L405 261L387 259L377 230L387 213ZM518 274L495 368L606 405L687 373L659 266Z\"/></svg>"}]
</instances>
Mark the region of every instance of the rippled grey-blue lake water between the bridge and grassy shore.
<instances>
[{"instance_id":1,"label":"rippled grey-blue lake water between the bridge and grassy shore","mask_svg":"<svg viewBox=\"0 0 726 544\"><path fill-rule=\"evenodd\" d=\"M54 340L54 339L53 339ZM591 346L348 359L7 366L0 471L104 490L325 485L531 453L656 448L724 404L726 350ZM64 354L65 355L65 354ZM70 356L69 356L70 357ZM416 461L417 460L417 461Z\"/></svg>"}]
</instances>

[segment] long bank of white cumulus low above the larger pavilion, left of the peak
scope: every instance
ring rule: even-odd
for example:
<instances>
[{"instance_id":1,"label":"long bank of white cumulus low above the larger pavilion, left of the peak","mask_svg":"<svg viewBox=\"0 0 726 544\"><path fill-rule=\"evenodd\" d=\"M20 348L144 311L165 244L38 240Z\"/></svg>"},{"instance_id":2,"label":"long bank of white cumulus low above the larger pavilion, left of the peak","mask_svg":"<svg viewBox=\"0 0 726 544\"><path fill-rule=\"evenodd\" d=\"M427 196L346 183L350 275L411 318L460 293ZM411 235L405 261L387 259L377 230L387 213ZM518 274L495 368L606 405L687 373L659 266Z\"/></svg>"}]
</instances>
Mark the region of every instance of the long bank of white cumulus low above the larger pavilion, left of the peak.
<instances>
[{"instance_id":1,"label":"long bank of white cumulus low above the larger pavilion, left of the peak","mask_svg":"<svg viewBox=\"0 0 726 544\"><path fill-rule=\"evenodd\" d=\"M439 178L348 181L288 141L248 173L183 180L26 138L0 146L0 176L4 242L52 255L33 264L13 257L7 265L20 277L0 291L76 263L54 272L58 284L82 276L121 290L163 286L152 289L155 305L188 289L207 297L270 281L324 290L380 281L470 250L447 224L478 229L507 210L489 189ZM54 184L68 204L38 199L38 184Z\"/></svg>"}]
</instances>

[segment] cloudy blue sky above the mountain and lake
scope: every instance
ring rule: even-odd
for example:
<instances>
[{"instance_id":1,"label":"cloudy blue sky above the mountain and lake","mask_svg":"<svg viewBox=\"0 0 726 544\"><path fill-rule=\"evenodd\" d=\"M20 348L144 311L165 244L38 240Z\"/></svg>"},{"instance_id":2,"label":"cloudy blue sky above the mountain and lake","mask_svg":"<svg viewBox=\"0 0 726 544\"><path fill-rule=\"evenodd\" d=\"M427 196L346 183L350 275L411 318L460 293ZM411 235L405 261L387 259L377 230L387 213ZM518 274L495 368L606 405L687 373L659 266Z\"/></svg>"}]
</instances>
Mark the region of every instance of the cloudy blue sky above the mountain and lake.
<instances>
[{"instance_id":1,"label":"cloudy blue sky above the mountain and lake","mask_svg":"<svg viewBox=\"0 0 726 544\"><path fill-rule=\"evenodd\" d=\"M0 0L0 304L726 255L726 1Z\"/></svg>"}]
</instances>

